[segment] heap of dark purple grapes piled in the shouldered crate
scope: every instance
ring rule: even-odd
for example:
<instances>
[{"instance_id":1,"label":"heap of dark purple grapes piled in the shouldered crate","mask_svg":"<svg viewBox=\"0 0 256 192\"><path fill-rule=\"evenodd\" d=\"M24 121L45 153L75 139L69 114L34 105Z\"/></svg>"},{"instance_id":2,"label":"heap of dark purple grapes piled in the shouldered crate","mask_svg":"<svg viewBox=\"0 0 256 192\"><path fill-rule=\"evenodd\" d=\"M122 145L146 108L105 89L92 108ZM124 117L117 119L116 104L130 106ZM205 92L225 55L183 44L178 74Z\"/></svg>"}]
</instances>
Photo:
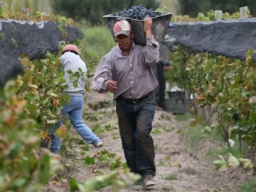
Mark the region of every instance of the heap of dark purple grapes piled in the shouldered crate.
<instances>
[{"instance_id":1,"label":"heap of dark purple grapes piled in the shouldered crate","mask_svg":"<svg viewBox=\"0 0 256 192\"><path fill-rule=\"evenodd\" d=\"M137 20L143 20L146 17L156 17L160 16L161 13L154 12L154 9L146 9L144 6L132 6L131 9L124 9L122 11L118 11L117 13L112 14L112 16L119 16L124 18L133 18Z\"/></svg>"}]
</instances>

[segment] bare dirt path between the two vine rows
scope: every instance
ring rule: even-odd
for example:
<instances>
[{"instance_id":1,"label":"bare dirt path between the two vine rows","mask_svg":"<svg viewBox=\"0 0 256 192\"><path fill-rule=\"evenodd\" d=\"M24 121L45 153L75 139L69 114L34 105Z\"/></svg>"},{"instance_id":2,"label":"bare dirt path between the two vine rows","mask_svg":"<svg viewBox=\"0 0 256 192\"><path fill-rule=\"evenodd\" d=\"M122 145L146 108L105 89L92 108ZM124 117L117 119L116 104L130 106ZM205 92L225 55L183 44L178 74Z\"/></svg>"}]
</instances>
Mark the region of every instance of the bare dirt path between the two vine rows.
<instances>
[{"instance_id":1,"label":"bare dirt path between the two vine rows","mask_svg":"<svg viewBox=\"0 0 256 192\"><path fill-rule=\"evenodd\" d=\"M87 94L87 102L111 101L112 96L109 94ZM102 104L103 105L103 104ZM102 111L102 112L100 112ZM114 112L114 103L108 108L101 110L92 110L85 104L85 113L90 113L97 122L85 122L90 127L93 125L111 125L117 128L117 116ZM184 123L184 122L183 122ZM185 122L186 124L186 122ZM153 137L156 149L156 186L151 191L177 191L177 192L203 192L203 191L235 191L235 175L236 172L229 171L226 173L218 173L214 170L213 164L202 162L196 156L196 153L188 151L183 142L182 134L178 133L181 123L176 122L174 115L164 111L156 110L153 123ZM182 125L183 126L183 125ZM75 131L72 134L76 134ZM97 154L99 150L105 149L110 153L115 153L116 157L122 157L125 162L122 151L122 144L117 129L110 131L102 131L98 135L102 137L104 147L95 149L90 146L90 154ZM78 145L66 147L68 156L63 159L64 164L68 164L68 169L62 178L75 177L78 181L83 182L86 179L95 176L95 169L109 172L109 164L98 164L95 166L85 166L84 160L87 152L82 152ZM72 146L73 145L73 146ZM202 145L211 145L211 143L203 142ZM207 146L206 146L207 147ZM200 150L198 149L198 152ZM243 180L238 178L236 181ZM68 183L60 182L50 183L43 191L69 191ZM113 191L111 186L102 188L98 191ZM133 188L123 188L120 191L135 191ZM142 188L139 191L143 191Z\"/></svg>"}]
</instances>

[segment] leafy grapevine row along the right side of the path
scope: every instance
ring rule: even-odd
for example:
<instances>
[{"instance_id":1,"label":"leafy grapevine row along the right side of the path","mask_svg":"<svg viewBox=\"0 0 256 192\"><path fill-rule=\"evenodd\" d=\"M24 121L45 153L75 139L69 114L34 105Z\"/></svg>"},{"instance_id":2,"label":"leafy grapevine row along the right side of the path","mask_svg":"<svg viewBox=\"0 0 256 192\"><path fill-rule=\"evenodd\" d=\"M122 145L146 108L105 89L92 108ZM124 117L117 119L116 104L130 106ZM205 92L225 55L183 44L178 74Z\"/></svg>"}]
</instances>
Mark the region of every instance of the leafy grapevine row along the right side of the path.
<instances>
[{"instance_id":1,"label":"leafy grapevine row along the right side of the path","mask_svg":"<svg viewBox=\"0 0 256 192\"><path fill-rule=\"evenodd\" d=\"M188 21L214 21L208 12L208 17L198 14L198 18ZM229 13L225 13L230 16ZM229 18L233 18L234 15ZM186 21L186 16L180 16ZM208 52L193 52L186 47L178 45L171 53L171 67L166 79L176 82L179 87L196 94L194 99L198 106L212 105L215 110L208 126L216 128L222 133L225 143L229 138L241 137L250 144L250 149L256 146L256 71L252 54L255 50L248 50L246 60L238 60L223 56L210 55ZM191 122L191 126L201 123L201 118ZM204 122L203 122L204 123ZM226 170L229 161L235 157L230 155L228 161L220 157L215 162L218 169ZM252 161L255 157L252 157ZM232 164L232 163L230 163ZM236 159L236 166L252 168L252 162ZM234 165L232 164L232 165Z\"/></svg>"}]
</instances>

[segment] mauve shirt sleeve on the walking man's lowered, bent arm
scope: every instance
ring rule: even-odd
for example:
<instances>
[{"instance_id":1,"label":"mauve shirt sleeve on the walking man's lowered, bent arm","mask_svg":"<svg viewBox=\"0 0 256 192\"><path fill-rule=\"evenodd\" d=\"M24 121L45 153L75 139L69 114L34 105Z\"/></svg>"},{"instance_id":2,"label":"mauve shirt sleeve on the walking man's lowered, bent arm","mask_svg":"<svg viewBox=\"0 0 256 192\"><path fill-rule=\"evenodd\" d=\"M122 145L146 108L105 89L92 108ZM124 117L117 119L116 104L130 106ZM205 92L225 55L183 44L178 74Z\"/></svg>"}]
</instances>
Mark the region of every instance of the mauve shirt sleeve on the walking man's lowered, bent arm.
<instances>
[{"instance_id":1,"label":"mauve shirt sleeve on the walking man's lowered, bent arm","mask_svg":"<svg viewBox=\"0 0 256 192\"><path fill-rule=\"evenodd\" d=\"M111 62L107 56L100 61L92 78L92 89L96 91L107 91L107 81L112 79Z\"/></svg>"}]
</instances>

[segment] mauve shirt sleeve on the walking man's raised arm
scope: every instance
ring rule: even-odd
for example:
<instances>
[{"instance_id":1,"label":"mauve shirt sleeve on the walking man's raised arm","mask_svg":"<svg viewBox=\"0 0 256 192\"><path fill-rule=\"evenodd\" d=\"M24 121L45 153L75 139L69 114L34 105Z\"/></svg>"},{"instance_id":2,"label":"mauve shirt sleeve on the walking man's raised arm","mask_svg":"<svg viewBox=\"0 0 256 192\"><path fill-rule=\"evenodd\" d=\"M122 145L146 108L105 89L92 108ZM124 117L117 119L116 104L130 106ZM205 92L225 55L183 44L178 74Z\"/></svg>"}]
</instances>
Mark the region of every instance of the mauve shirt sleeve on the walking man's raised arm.
<instances>
[{"instance_id":1,"label":"mauve shirt sleeve on the walking man's raised arm","mask_svg":"<svg viewBox=\"0 0 256 192\"><path fill-rule=\"evenodd\" d=\"M159 43L154 39L146 37L146 46L144 47L145 62L149 67L154 67L159 62Z\"/></svg>"}]
</instances>

